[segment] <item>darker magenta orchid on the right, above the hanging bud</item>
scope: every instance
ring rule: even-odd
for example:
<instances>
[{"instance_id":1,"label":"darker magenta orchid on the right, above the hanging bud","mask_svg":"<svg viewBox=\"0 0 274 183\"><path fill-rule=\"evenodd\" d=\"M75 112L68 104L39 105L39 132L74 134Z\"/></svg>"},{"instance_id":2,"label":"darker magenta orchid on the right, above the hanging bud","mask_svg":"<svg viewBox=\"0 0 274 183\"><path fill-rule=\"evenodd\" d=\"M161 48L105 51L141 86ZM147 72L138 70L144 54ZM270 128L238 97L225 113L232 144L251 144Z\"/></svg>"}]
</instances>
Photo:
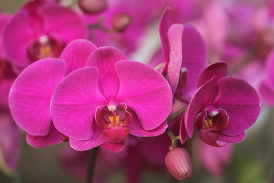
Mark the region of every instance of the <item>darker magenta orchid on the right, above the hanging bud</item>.
<instances>
[{"instance_id":1,"label":"darker magenta orchid on the right, above the hanging bud","mask_svg":"<svg viewBox=\"0 0 274 183\"><path fill-rule=\"evenodd\" d=\"M260 99L247 82L226 77L227 64L217 62L202 71L197 91L192 97L181 123L181 140L192 137L195 128L199 137L212 146L220 142L238 143L245 130L255 123L260 113Z\"/></svg>"}]
</instances>

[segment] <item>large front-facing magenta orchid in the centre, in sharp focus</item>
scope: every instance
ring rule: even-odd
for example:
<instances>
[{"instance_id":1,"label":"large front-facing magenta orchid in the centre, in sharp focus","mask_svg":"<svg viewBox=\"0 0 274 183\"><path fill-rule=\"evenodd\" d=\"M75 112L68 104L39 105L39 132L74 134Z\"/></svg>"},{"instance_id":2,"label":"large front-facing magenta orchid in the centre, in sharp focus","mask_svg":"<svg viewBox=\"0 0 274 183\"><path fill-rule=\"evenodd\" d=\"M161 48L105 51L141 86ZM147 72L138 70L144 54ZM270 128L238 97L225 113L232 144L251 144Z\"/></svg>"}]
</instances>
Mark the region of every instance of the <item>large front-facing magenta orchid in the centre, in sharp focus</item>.
<instances>
[{"instance_id":1,"label":"large front-facing magenta orchid in the centre, in sharp focus","mask_svg":"<svg viewBox=\"0 0 274 183\"><path fill-rule=\"evenodd\" d=\"M86 67L58 84L51 115L71 147L88 150L106 141L120 143L127 134L162 134L171 106L171 88L160 73L127 60L118 49L101 47Z\"/></svg>"}]
</instances>

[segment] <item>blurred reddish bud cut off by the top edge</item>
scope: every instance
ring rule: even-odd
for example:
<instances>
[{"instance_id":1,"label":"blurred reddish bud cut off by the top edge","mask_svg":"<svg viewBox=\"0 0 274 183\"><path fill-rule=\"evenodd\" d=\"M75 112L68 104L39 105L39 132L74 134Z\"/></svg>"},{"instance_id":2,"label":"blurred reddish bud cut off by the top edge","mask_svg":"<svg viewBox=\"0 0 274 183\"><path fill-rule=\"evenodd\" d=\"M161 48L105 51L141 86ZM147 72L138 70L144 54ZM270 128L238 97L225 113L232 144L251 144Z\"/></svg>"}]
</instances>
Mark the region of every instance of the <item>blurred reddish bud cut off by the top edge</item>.
<instances>
[{"instance_id":1,"label":"blurred reddish bud cut off by the top edge","mask_svg":"<svg viewBox=\"0 0 274 183\"><path fill-rule=\"evenodd\" d=\"M108 7L105 0L79 0L78 5L84 12L91 14L103 12Z\"/></svg>"}]
</instances>

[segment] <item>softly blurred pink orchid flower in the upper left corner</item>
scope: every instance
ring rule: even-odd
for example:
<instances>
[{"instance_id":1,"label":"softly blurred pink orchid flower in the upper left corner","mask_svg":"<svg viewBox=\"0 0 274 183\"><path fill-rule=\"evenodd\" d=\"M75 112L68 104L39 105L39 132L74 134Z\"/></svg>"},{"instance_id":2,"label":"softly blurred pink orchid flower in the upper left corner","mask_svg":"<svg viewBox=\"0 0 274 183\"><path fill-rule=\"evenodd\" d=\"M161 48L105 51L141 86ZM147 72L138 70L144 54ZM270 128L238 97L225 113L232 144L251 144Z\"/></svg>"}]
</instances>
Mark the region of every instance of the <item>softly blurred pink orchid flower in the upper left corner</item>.
<instances>
[{"instance_id":1,"label":"softly blurred pink orchid flower in the upper left corner","mask_svg":"<svg viewBox=\"0 0 274 183\"><path fill-rule=\"evenodd\" d=\"M85 38L86 33L82 17L69 8L30 1L5 26L3 49L8 60L21 71L36 60L57 58L67 43Z\"/></svg>"}]
</instances>

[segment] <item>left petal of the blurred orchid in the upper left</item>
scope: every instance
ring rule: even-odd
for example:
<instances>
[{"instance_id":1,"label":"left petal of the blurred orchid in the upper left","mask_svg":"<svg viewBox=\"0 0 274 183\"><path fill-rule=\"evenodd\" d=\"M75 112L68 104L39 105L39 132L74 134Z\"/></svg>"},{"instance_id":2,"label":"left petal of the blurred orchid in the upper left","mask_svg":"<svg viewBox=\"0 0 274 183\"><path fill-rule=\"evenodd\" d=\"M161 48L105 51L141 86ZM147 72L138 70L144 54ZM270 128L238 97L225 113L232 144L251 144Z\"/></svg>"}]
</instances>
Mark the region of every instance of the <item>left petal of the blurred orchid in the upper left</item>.
<instances>
[{"instance_id":1,"label":"left petal of the blurred orchid in the upper left","mask_svg":"<svg viewBox=\"0 0 274 183\"><path fill-rule=\"evenodd\" d=\"M27 46L33 37L27 11L21 10L12 16L3 30L3 50L12 64L20 67L30 64Z\"/></svg>"}]
</instances>

